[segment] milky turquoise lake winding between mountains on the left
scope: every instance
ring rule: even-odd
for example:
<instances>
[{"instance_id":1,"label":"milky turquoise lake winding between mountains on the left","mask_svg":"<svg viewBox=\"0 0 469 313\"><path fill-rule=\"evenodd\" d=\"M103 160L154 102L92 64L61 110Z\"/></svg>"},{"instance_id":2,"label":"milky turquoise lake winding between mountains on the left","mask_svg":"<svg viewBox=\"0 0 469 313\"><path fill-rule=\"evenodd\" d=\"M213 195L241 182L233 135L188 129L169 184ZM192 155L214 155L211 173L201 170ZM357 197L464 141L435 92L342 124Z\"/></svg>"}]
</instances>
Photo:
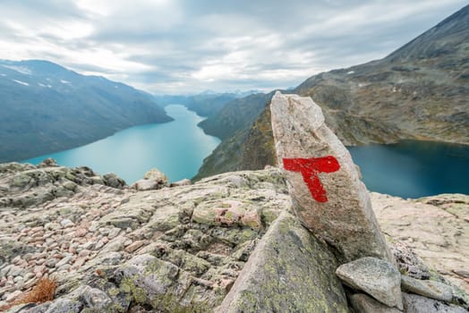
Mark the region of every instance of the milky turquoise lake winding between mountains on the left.
<instances>
[{"instance_id":1,"label":"milky turquoise lake winding between mountains on the left","mask_svg":"<svg viewBox=\"0 0 469 313\"><path fill-rule=\"evenodd\" d=\"M53 157L58 165L86 165L101 174L114 172L127 183L140 180L152 167L166 173L170 182L192 178L220 140L206 135L197 126L203 118L184 106L165 109L175 121L135 126L86 146L23 162L38 164Z\"/></svg>"}]
</instances>

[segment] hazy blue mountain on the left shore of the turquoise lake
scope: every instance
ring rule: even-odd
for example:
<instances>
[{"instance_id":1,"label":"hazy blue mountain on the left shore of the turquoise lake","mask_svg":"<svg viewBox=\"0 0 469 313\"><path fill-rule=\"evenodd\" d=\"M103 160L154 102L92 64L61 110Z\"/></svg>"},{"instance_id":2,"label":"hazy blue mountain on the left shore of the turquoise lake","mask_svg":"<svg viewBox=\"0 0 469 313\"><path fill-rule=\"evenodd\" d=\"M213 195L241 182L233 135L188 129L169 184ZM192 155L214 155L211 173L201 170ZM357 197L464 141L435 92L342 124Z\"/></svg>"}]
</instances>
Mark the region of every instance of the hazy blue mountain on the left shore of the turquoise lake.
<instances>
[{"instance_id":1,"label":"hazy blue mountain on the left shore of the turquoise lake","mask_svg":"<svg viewBox=\"0 0 469 313\"><path fill-rule=\"evenodd\" d=\"M0 60L0 162L105 138L144 123L171 121L147 93L47 61Z\"/></svg>"}]
</instances>

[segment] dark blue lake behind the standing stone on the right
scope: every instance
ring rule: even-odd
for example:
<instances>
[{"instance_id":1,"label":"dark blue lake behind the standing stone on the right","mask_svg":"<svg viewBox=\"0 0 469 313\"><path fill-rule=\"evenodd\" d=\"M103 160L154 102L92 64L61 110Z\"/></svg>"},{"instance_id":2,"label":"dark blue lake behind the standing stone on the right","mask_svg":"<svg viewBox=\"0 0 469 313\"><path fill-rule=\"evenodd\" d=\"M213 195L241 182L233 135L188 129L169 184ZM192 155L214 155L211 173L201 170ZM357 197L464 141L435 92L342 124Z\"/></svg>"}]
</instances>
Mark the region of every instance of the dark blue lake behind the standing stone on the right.
<instances>
[{"instance_id":1,"label":"dark blue lake behind the standing stone on the right","mask_svg":"<svg viewBox=\"0 0 469 313\"><path fill-rule=\"evenodd\" d=\"M403 198L469 194L468 146L405 140L349 151L369 190Z\"/></svg>"}]
</instances>

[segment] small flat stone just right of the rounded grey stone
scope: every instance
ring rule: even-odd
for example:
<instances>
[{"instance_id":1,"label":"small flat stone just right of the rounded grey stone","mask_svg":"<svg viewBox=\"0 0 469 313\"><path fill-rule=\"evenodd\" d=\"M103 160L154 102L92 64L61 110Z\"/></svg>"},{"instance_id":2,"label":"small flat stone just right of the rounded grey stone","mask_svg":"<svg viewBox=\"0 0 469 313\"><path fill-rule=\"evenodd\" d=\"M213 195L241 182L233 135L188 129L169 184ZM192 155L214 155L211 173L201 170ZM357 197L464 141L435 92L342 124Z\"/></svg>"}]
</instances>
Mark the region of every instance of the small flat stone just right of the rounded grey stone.
<instances>
[{"instance_id":1,"label":"small flat stone just right of the rounded grey stone","mask_svg":"<svg viewBox=\"0 0 469 313\"><path fill-rule=\"evenodd\" d=\"M402 275L401 286L402 290L405 292L420 294L427 298L442 301L450 301L453 299L453 289L446 283L429 280L422 281L420 279Z\"/></svg>"}]
</instances>

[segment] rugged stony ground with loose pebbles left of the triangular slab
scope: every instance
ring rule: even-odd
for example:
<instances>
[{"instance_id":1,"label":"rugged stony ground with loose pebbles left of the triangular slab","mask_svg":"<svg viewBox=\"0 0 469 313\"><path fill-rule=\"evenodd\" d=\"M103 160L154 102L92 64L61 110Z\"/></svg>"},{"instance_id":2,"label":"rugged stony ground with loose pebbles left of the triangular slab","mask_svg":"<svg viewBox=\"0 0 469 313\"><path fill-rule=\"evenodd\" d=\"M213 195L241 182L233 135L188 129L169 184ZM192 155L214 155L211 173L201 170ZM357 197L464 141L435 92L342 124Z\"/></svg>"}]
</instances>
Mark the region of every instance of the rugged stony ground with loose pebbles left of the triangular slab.
<instances>
[{"instance_id":1,"label":"rugged stony ground with loose pebbles left of the triangular slab","mask_svg":"<svg viewBox=\"0 0 469 313\"><path fill-rule=\"evenodd\" d=\"M78 300L84 294L112 311L205 311L289 207L277 169L148 191L110 187L109 176L53 163L1 166L2 304L55 276L58 299L31 311L81 311L90 306Z\"/></svg>"}]
</instances>

